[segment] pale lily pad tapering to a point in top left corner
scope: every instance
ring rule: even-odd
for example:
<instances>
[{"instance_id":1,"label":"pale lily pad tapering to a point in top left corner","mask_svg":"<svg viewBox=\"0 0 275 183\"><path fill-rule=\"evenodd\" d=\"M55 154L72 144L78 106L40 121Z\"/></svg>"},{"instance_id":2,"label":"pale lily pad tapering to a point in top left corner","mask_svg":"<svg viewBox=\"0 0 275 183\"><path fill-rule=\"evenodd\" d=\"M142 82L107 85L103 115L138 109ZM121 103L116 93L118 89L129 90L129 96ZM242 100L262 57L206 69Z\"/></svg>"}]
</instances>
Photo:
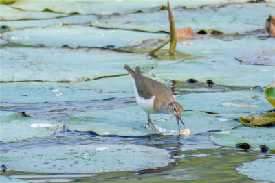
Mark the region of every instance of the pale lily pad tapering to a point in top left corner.
<instances>
[{"instance_id":1,"label":"pale lily pad tapering to a point in top left corner","mask_svg":"<svg viewBox=\"0 0 275 183\"><path fill-rule=\"evenodd\" d=\"M0 20L1 21L14 21L21 19L52 19L66 14L57 14L53 12L26 12L15 8L10 8L8 5L0 4Z\"/></svg>"}]
</instances>

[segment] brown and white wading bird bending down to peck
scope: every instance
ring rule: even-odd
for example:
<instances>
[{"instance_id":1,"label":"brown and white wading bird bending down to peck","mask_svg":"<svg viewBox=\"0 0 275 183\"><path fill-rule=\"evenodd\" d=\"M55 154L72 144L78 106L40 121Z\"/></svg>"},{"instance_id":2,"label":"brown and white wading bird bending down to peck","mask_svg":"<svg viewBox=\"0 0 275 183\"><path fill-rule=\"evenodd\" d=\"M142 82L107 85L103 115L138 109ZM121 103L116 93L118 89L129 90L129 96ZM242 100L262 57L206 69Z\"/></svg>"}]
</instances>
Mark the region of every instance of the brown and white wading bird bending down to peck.
<instances>
[{"instance_id":1,"label":"brown and white wading bird bending down to peck","mask_svg":"<svg viewBox=\"0 0 275 183\"><path fill-rule=\"evenodd\" d=\"M179 121L184 125L181 119L181 113L184 111L184 108L180 103L175 101L175 96L170 88L161 82L142 75L139 66L135 67L135 71L128 65L124 65L124 69L128 71L132 79L137 104L147 113L148 125L151 125L157 133L162 134L152 123L150 114L173 114L180 133Z\"/></svg>"}]
</instances>

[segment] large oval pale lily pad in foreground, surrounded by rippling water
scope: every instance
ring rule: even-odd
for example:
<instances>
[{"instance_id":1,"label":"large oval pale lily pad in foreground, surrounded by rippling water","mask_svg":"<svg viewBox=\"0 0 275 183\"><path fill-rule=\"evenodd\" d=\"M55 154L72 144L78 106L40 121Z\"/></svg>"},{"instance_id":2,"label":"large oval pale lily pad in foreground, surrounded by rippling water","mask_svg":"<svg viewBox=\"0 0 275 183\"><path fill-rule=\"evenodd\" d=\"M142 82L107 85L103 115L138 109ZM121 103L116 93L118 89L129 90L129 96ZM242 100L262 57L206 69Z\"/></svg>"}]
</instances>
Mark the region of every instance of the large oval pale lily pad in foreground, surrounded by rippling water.
<instances>
[{"instance_id":1,"label":"large oval pale lily pad in foreground, surrounded by rippling water","mask_svg":"<svg viewBox=\"0 0 275 183\"><path fill-rule=\"evenodd\" d=\"M168 151L131 144L89 144L10 150L1 154L10 170L37 173L100 173L163 167Z\"/></svg>"}]
</instances>

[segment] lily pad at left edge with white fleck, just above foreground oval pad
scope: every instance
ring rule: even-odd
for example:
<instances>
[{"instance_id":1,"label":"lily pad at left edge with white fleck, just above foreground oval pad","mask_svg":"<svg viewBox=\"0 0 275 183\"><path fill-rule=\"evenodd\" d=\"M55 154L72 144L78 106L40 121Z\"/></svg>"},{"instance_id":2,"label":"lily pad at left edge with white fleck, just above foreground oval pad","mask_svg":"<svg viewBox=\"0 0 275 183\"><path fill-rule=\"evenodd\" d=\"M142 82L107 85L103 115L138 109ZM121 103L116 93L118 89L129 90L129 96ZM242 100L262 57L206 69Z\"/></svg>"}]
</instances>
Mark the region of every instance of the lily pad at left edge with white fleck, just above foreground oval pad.
<instances>
[{"instance_id":1,"label":"lily pad at left edge with white fleck, just above foreground oval pad","mask_svg":"<svg viewBox=\"0 0 275 183\"><path fill-rule=\"evenodd\" d=\"M0 114L0 141L3 142L50 136L63 129L63 123L33 119L32 117L20 117L14 112L1 111ZM47 127L37 127L39 124Z\"/></svg>"}]
</instances>

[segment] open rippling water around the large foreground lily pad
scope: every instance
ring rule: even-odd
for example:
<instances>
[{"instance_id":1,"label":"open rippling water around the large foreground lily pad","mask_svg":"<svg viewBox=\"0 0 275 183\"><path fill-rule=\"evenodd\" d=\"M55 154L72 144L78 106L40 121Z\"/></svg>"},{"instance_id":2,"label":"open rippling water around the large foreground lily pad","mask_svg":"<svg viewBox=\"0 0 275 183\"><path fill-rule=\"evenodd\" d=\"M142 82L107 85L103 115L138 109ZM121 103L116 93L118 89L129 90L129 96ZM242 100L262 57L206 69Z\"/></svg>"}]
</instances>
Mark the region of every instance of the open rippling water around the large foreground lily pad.
<instances>
[{"instance_id":1,"label":"open rippling water around the large foreground lily pad","mask_svg":"<svg viewBox=\"0 0 275 183\"><path fill-rule=\"evenodd\" d=\"M49 119L66 123L80 111L121 108L135 105L133 98L113 98L83 102L56 103L1 103L1 110L25 111L36 119ZM1 175L29 182L251 182L236 171L243 162L255 160L259 151L241 151L225 148L210 141L211 132L188 137L162 136L100 136L96 132L79 132L63 127L61 132L45 138L0 143L1 151L22 150L34 147L54 147L89 144L146 145L165 149L172 160L164 167L136 171L96 173L32 173L8 170ZM264 155L265 156L265 155ZM266 155L267 156L267 155ZM83 167L85 168L85 167Z\"/></svg>"}]
</instances>

